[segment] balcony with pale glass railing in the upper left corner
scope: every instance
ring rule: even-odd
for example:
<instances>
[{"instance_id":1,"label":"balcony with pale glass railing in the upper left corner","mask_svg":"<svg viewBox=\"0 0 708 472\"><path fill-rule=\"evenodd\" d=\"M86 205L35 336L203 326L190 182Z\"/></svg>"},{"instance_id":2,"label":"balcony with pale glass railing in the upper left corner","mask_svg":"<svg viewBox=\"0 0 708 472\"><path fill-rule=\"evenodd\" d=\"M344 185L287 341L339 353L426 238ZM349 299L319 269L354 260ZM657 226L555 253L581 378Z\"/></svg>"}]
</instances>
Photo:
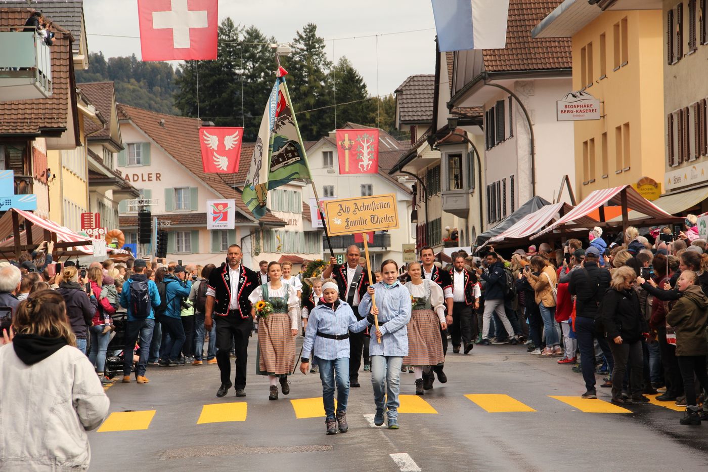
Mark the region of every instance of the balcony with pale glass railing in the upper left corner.
<instances>
[{"instance_id":1,"label":"balcony with pale glass railing in the upper left corner","mask_svg":"<svg viewBox=\"0 0 708 472\"><path fill-rule=\"evenodd\" d=\"M40 35L0 31L0 44L0 101L51 96L51 50Z\"/></svg>"}]
</instances>

